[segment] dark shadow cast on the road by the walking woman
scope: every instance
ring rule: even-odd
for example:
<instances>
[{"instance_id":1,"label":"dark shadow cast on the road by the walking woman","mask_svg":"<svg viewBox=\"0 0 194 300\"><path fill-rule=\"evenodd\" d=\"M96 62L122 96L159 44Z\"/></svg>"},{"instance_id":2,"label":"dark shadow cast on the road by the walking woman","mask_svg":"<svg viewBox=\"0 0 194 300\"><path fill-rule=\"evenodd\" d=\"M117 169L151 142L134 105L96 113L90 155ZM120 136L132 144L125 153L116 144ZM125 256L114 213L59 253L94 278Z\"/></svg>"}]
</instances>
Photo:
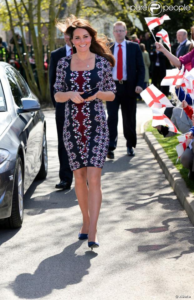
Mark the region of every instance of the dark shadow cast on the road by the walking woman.
<instances>
[{"instance_id":1,"label":"dark shadow cast on the road by the walking woman","mask_svg":"<svg viewBox=\"0 0 194 300\"><path fill-rule=\"evenodd\" d=\"M70 284L81 282L89 274L90 260L98 255L94 251L76 255L75 251L82 243L79 240L67 246L61 253L46 258L34 274L18 275L10 283L15 295L19 298L36 299L50 294L53 289L64 289Z\"/></svg>"}]
</instances>

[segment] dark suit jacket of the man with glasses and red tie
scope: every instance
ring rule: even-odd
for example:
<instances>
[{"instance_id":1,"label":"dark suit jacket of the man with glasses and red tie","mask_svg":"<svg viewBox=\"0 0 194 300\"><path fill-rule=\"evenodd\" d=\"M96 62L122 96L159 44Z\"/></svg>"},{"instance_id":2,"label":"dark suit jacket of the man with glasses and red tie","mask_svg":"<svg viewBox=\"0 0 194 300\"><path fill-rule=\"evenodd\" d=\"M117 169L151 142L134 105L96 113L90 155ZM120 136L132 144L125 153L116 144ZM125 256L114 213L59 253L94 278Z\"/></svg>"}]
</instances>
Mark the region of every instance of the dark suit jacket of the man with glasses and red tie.
<instances>
[{"instance_id":1,"label":"dark suit jacket of the man with glasses and red tie","mask_svg":"<svg viewBox=\"0 0 194 300\"><path fill-rule=\"evenodd\" d=\"M115 45L110 48L114 53ZM138 43L126 40L127 86L130 97L136 97L135 87L144 86L145 66Z\"/></svg>"}]
</instances>

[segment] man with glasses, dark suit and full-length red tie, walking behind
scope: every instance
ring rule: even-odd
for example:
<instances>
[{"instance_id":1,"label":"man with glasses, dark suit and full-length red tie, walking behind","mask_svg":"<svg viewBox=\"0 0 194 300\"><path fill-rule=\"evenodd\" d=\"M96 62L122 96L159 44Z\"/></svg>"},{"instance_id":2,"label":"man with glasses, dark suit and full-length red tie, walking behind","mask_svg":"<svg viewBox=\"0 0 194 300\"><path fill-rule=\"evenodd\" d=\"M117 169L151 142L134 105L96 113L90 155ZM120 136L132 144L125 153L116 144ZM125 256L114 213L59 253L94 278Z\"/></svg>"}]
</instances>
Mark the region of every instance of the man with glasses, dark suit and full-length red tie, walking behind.
<instances>
[{"instance_id":1,"label":"man with glasses, dark suit and full-length red tie, walking behind","mask_svg":"<svg viewBox=\"0 0 194 300\"><path fill-rule=\"evenodd\" d=\"M136 98L143 90L145 78L145 66L140 46L137 43L127 41L126 24L118 21L113 25L115 44L111 51L116 63L113 68L113 78L116 84L116 96L111 103L106 102L109 127L109 149L107 157L114 158L114 150L117 145L118 111L121 106L123 118L123 132L126 139L127 155L134 156L136 146Z\"/></svg>"}]
</instances>

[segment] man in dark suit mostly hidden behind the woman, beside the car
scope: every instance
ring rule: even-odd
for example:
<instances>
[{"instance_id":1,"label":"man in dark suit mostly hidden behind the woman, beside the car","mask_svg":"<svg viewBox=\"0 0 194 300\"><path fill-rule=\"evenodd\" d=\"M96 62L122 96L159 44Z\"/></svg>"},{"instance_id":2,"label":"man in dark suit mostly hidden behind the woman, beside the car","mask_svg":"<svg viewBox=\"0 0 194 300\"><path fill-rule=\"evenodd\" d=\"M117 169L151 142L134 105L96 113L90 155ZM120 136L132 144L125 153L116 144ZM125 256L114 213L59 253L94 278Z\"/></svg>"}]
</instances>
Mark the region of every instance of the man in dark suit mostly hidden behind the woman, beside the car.
<instances>
[{"instance_id":1,"label":"man in dark suit mostly hidden behind the woman, beside the car","mask_svg":"<svg viewBox=\"0 0 194 300\"><path fill-rule=\"evenodd\" d=\"M69 36L64 34L64 39L66 45L59 49L51 52L50 56L50 67L49 67L49 84L50 84L50 95L55 107L55 119L57 125L57 135L58 135L58 155L59 155L59 178L60 182L56 184L56 188L60 189L70 189L73 180L73 171L71 171L69 166L69 159L67 151L64 146L63 141L63 127L65 122L65 103L56 102L54 99L54 84L56 81L56 70L59 59L64 56L72 54L71 43L69 41Z\"/></svg>"}]
</instances>

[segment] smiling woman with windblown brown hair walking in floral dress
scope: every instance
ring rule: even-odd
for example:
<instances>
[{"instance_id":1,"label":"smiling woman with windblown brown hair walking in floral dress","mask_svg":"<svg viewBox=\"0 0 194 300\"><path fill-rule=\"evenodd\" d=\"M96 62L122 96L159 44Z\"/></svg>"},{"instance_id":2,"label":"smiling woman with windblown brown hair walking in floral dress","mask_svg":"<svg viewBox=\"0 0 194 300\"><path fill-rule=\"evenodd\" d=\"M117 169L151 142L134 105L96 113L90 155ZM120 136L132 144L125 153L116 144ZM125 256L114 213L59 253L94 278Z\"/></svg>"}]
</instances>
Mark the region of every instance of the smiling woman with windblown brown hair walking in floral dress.
<instances>
[{"instance_id":1,"label":"smiling woman with windblown brown hair walking in floral dress","mask_svg":"<svg viewBox=\"0 0 194 300\"><path fill-rule=\"evenodd\" d=\"M56 26L69 35L73 55L58 62L54 97L56 102L66 102L64 144L83 215L79 239L88 238L88 246L93 248L99 246L96 231L102 202L100 178L109 145L102 100L115 98L111 71L115 59L107 40L97 38L88 21L71 15ZM94 87L99 91L84 100L82 94Z\"/></svg>"}]
</instances>

